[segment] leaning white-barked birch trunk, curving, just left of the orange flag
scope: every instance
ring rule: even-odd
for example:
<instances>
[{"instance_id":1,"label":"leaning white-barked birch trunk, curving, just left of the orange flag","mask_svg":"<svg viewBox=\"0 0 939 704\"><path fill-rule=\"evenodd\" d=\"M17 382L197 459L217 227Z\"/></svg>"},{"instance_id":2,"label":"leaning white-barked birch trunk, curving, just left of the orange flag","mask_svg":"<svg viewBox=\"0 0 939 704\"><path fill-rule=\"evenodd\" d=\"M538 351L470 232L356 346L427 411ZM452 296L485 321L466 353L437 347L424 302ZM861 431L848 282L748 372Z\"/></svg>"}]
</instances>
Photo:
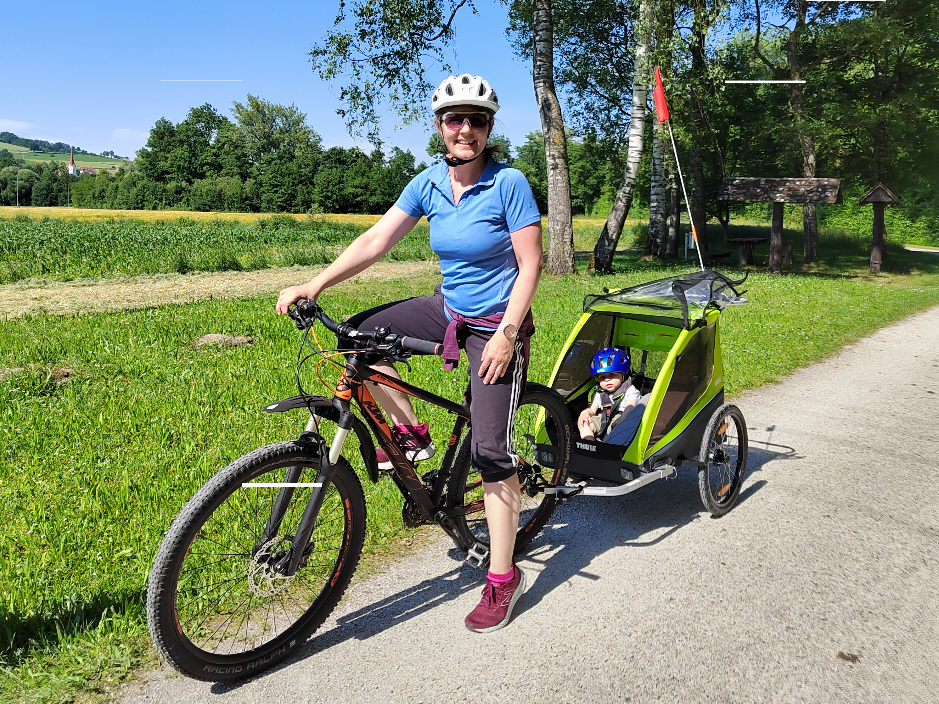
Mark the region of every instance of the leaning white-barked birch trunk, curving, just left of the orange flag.
<instances>
[{"instance_id":1,"label":"leaning white-barked birch trunk, curving, just left of the orange flag","mask_svg":"<svg viewBox=\"0 0 939 704\"><path fill-rule=\"evenodd\" d=\"M645 130L646 101L649 93L649 45L652 43L653 1L641 0L636 30L636 64L633 73L633 104L629 115L629 147L620 187L613 198L603 232L593 248L590 268L601 273L613 270L613 254L623 235L623 223L633 205L633 191L642 159L642 137Z\"/></svg>"}]
</instances>

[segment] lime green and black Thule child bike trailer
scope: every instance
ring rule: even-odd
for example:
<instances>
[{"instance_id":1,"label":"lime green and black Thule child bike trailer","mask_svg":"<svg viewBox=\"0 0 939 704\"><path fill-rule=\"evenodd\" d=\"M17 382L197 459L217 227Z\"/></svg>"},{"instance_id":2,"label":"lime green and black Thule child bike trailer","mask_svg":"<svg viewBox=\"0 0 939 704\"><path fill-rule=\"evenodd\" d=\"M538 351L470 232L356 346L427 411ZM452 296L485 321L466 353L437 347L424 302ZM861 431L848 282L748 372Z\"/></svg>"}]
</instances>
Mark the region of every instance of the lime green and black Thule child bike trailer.
<instances>
[{"instance_id":1,"label":"lime green and black Thule child bike trailer","mask_svg":"<svg viewBox=\"0 0 939 704\"><path fill-rule=\"evenodd\" d=\"M747 470L747 423L737 406L724 403L720 316L747 303L736 288L745 279L699 271L584 298L584 313L548 385L563 397L575 426L568 476L587 482L546 487L546 494L561 501L618 496L668 478L677 467L697 467L704 507L714 515L731 510ZM577 417L596 389L591 360L613 346L629 351L641 398L610 441L582 439ZM538 435L539 461L550 466L550 433L542 428ZM619 485L591 486L591 480Z\"/></svg>"}]
</instances>

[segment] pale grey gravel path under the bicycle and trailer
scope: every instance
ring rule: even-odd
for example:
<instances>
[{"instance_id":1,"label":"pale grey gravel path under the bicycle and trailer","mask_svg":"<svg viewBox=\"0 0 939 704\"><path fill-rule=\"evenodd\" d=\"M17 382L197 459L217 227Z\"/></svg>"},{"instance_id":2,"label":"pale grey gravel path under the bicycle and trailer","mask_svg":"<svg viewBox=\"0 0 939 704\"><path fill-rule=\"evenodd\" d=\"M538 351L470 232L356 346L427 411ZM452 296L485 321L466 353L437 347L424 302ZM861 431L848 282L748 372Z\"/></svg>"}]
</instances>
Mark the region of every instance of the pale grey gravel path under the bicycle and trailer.
<instances>
[{"instance_id":1,"label":"pale grey gravel path under the bicycle and trailer","mask_svg":"<svg viewBox=\"0 0 939 704\"><path fill-rule=\"evenodd\" d=\"M439 540L351 589L285 666L235 687L150 673L123 701L935 701L939 308L738 404L731 513L702 513L687 469L575 500L497 633L463 627L482 575Z\"/></svg>"}]
</instances>

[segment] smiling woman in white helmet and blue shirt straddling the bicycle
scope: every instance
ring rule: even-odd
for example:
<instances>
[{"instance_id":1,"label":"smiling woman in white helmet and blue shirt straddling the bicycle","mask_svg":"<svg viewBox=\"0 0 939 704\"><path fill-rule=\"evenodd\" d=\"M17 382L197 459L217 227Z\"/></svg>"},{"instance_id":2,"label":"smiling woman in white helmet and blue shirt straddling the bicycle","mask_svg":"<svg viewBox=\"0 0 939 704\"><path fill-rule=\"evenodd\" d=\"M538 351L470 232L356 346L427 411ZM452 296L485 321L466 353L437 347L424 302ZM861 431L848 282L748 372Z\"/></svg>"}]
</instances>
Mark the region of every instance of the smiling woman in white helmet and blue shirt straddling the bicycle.
<instances>
[{"instance_id":1,"label":"smiling woman in white helmet and blue shirt straddling the bicycle","mask_svg":"<svg viewBox=\"0 0 939 704\"><path fill-rule=\"evenodd\" d=\"M463 347L471 368L471 462L483 477L490 536L489 573L483 599L466 624L495 631L512 616L525 589L513 552L520 486L512 452L515 408L524 392L528 338L534 332L531 301L541 278L541 215L531 187L516 169L491 158L486 142L499 110L496 92L480 76L450 76L431 98L434 124L448 154L415 176L394 206L310 283L281 291L277 313L301 298L316 298L331 285L375 264L405 237L422 215L430 222L430 246L440 258L443 283L432 296L408 298L354 316L359 329L388 327L398 334L444 344L444 365L454 368ZM397 376L392 364L376 365ZM412 460L434 453L426 424L408 397L377 387L377 401L392 417L393 432ZM384 451L378 460L387 463Z\"/></svg>"}]
</instances>

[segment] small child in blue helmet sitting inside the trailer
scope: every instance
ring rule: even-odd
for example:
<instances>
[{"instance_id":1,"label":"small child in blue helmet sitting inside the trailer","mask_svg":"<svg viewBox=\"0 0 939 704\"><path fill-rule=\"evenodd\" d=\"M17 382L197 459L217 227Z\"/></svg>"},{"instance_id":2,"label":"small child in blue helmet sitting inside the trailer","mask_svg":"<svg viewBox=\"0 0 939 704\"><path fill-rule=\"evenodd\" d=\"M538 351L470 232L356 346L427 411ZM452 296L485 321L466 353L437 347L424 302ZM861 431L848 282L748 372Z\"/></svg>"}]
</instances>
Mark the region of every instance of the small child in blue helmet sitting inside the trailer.
<instances>
[{"instance_id":1,"label":"small child in blue helmet sitting inside the trailer","mask_svg":"<svg viewBox=\"0 0 939 704\"><path fill-rule=\"evenodd\" d=\"M629 378L631 371L629 353L621 347L604 347L593 355L590 373L597 389L593 403L577 419L582 438L605 440L639 403L641 394Z\"/></svg>"}]
</instances>

